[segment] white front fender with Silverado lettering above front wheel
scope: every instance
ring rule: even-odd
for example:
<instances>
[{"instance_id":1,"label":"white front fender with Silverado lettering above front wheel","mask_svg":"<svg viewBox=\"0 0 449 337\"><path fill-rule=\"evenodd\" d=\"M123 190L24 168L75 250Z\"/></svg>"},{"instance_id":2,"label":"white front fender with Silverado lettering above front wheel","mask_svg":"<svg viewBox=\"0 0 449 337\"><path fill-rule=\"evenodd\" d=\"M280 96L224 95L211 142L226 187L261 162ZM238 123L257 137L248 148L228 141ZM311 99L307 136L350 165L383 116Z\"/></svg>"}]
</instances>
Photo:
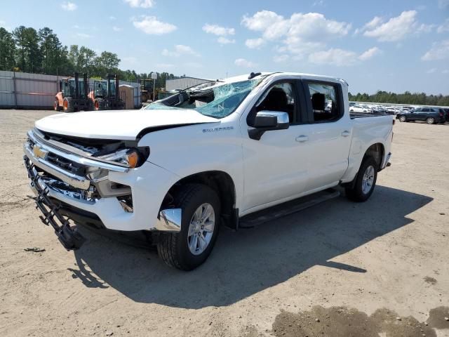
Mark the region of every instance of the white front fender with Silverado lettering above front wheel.
<instances>
[{"instance_id":1,"label":"white front fender with Silverado lettering above front wheel","mask_svg":"<svg viewBox=\"0 0 449 337\"><path fill-rule=\"evenodd\" d=\"M147 133L139 146L150 148L147 159L185 178L205 171L222 171L234 181L236 208L243 201L241 135L233 123L196 124Z\"/></svg>"}]
</instances>

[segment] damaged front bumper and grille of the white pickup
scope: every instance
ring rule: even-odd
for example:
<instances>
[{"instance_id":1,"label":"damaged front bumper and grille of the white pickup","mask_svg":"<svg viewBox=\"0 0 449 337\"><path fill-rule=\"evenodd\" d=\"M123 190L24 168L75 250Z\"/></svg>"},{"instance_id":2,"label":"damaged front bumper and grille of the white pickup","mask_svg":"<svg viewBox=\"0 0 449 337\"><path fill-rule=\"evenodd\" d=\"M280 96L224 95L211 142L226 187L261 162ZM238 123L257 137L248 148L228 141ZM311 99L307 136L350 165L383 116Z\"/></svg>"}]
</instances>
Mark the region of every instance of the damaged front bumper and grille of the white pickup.
<instances>
[{"instance_id":1,"label":"damaged front bumper and grille of the white pickup","mask_svg":"<svg viewBox=\"0 0 449 337\"><path fill-rule=\"evenodd\" d=\"M148 161L126 169L51 145L30 138L24 145L25 166L41 218L66 249L79 248L83 239L69 226L61 204L95 216L109 230L180 231L181 210L161 209L166 192L179 180L174 173Z\"/></svg>"}]
</instances>

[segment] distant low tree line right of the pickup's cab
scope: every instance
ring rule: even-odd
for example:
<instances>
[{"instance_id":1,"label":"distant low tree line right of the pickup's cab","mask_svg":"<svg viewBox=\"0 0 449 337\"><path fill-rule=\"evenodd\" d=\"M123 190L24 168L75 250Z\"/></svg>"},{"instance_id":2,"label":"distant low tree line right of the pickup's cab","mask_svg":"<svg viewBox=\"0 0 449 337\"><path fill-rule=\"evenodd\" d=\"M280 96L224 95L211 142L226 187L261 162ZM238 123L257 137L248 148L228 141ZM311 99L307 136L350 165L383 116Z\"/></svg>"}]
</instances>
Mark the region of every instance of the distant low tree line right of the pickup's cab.
<instances>
[{"instance_id":1,"label":"distant low tree line right of the pickup's cab","mask_svg":"<svg viewBox=\"0 0 449 337\"><path fill-rule=\"evenodd\" d=\"M410 93L410 91L405 93L377 91L374 95L368 95L368 93L352 95L349 93L349 100L356 102L449 106L449 95L427 95L426 93Z\"/></svg>"}]
</instances>

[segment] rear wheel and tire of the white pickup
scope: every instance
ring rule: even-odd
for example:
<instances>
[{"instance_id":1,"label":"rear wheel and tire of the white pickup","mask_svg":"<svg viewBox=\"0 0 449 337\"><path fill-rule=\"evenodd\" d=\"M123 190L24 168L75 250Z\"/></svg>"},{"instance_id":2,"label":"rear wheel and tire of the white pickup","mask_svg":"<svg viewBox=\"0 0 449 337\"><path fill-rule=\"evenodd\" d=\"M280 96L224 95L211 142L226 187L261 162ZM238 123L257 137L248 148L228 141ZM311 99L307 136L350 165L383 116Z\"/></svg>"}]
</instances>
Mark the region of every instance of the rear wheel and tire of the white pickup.
<instances>
[{"instance_id":1,"label":"rear wheel and tire of the white pickup","mask_svg":"<svg viewBox=\"0 0 449 337\"><path fill-rule=\"evenodd\" d=\"M377 161L373 157L363 159L353 187L346 187L344 191L348 199L363 202L373 194L377 180Z\"/></svg>"}]
</instances>

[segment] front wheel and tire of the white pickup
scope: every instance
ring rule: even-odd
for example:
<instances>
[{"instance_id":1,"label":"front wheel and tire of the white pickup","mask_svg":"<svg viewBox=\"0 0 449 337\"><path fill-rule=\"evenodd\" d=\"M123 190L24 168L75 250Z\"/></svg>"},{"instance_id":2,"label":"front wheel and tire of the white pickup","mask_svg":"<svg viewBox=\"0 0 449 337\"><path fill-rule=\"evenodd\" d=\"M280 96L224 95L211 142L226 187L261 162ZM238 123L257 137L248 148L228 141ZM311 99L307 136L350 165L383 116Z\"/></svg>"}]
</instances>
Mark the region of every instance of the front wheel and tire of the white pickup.
<instances>
[{"instance_id":1,"label":"front wheel and tire of the white pickup","mask_svg":"<svg viewBox=\"0 0 449 337\"><path fill-rule=\"evenodd\" d=\"M188 184L175 197L182 209L181 230L161 233L157 251L168 265L194 270L210 255L220 227L220 199L210 187Z\"/></svg>"}]
</instances>

